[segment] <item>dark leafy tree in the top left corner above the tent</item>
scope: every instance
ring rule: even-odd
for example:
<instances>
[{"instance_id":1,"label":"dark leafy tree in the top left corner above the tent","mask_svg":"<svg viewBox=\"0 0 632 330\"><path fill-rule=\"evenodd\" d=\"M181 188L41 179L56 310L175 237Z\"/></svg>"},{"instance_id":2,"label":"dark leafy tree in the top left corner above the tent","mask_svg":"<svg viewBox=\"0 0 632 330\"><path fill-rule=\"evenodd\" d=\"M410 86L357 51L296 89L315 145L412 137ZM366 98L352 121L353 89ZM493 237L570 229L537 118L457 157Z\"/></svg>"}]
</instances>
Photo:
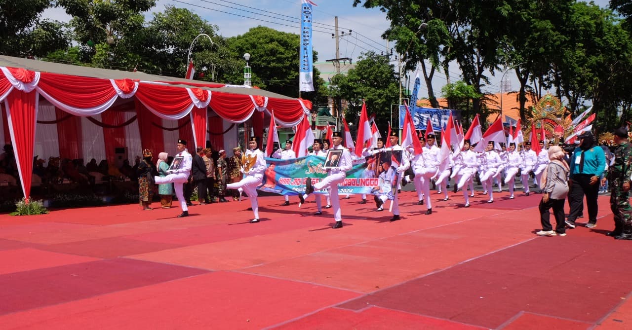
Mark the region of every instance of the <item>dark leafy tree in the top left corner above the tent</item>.
<instances>
[{"instance_id":1,"label":"dark leafy tree in the top left corner above the tent","mask_svg":"<svg viewBox=\"0 0 632 330\"><path fill-rule=\"evenodd\" d=\"M0 54L40 57L68 47L66 25L40 19L50 7L50 0L0 0Z\"/></svg>"}]
</instances>

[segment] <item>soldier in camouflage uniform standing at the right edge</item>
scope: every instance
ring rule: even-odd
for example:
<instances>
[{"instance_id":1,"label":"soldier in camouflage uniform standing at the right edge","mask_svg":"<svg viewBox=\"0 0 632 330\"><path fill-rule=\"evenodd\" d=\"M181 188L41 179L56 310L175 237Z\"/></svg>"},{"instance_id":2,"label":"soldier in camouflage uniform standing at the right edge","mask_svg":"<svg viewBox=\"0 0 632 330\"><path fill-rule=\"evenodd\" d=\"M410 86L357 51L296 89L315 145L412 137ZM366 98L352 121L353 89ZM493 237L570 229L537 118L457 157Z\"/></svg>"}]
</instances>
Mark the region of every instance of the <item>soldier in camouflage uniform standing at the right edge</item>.
<instances>
[{"instance_id":1,"label":"soldier in camouflage uniform standing at the right edge","mask_svg":"<svg viewBox=\"0 0 632 330\"><path fill-rule=\"evenodd\" d=\"M628 141L628 129L621 127L614 131L614 163L608 168L605 180L611 187L610 208L614 215L614 232L607 235L617 240L632 240L632 206L629 204L630 175L632 175L632 146Z\"/></svg>"}]
</instances>

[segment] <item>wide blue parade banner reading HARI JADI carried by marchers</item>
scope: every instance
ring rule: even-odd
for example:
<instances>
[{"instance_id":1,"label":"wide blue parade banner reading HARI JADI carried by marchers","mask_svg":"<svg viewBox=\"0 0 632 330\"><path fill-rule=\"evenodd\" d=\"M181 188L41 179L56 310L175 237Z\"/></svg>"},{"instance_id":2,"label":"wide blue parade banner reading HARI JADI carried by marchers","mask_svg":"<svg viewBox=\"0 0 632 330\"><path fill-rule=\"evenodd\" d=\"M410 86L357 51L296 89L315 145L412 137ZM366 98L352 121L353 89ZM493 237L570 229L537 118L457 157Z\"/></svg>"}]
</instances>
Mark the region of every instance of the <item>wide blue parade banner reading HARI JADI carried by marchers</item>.
<instances>
[{"instance_id":1,"label":"wide blue parade banner reading HARI JADI carried by marchers","mask_svg":"<svg viewBox=\"0 0 632 330\"><path fill-rule=\"evenodd\" d=\"M275 192L281 195L296 195L305 192L305 179L312 178L315 184L327 177L324 169L325 157L305 156L281 160L265 158L268 168L265 170L260 191ZM389 199L397 189L396 170L401 163L401 150L382 151L376 155L356 160L353 168L346 172L346 179L338 186L339 194L386 194ZM393 189L394 187L394 189ZM315 191L326 194L326 190Z\"/></svg>"}]
</instances>

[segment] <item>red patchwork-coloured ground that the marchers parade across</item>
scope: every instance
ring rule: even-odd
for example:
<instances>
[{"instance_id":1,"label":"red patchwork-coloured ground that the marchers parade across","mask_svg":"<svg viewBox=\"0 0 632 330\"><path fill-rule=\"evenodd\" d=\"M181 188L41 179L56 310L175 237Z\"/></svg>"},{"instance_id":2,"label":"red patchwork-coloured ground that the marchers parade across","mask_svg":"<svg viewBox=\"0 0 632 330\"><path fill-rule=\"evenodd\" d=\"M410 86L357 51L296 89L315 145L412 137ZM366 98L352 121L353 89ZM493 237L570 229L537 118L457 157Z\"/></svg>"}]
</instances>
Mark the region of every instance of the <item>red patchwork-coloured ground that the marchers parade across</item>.
<instances>
[{"instance_id":1,"label":"red patchwork-coloured ground that the marchers parade across","mask_svg":"<svg viewBox=\"0 0 632 330\"><path fill-rule=\"evenodd\" d=\"M450 196L392 223L352 196L336 230L296 196L0 215L0 329L632 329L607 196L566 237L535 235L542 195Z\"/></svg>"}]
</instances>

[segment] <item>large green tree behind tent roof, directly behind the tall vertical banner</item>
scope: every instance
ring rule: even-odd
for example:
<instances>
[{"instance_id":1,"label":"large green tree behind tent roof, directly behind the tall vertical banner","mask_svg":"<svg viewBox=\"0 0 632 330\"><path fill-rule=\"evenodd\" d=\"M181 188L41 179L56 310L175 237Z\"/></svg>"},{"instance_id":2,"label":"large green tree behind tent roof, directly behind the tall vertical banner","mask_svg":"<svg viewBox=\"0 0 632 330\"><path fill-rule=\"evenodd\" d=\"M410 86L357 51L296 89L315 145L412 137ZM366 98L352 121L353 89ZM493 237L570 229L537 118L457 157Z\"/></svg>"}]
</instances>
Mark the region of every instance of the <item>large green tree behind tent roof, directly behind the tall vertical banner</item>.
<instances>
[{"instance_id":1,"label":"large green tree behind tent roof, directly behind the tall vertical banner","mask_svg":"<svg viewBox=\"0 0 632 330\"><path fill-rule=\"evenodd\" d=\"M228 38L228 47L233 58L241 59L241 67L246 62L243 54L250 54L248 64L252 68L252 81L262 89L298 97L298 56L300 38L296 33L280 32L268 27L255 27L243 35ZM318 53L313 52L313 61L318 59ZM323 86L325 81L319 76L317 69L313 70L313 92L301 93L301 98L313 103L327 102L327 95ZM227 72L222 75L228 83L242 84L243 71Z\"/></svg>"}]
</instances>

